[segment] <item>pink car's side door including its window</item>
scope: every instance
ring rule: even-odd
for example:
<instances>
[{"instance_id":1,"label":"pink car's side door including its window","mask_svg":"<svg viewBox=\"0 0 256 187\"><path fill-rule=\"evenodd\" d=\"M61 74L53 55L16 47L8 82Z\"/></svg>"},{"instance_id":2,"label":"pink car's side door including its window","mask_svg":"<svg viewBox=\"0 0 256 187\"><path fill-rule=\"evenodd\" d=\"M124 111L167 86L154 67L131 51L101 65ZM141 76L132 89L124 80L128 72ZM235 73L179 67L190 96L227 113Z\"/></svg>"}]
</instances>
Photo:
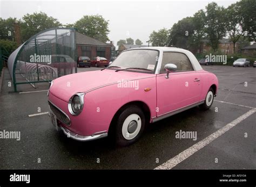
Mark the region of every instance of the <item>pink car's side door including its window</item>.
<instances>
[{"instance_id":1,"label":"pink car's side door including its window","mask_svg":"<svg viewBox=\"0 0 256 187\"><path fill-rule=\"evenodd\" d=\"M177 70L166 78L165 64L176 64ZM160 74L157 75L157 116L199 102L200 73L183 53L164 52Z\"/></svg>"}]
</instances>

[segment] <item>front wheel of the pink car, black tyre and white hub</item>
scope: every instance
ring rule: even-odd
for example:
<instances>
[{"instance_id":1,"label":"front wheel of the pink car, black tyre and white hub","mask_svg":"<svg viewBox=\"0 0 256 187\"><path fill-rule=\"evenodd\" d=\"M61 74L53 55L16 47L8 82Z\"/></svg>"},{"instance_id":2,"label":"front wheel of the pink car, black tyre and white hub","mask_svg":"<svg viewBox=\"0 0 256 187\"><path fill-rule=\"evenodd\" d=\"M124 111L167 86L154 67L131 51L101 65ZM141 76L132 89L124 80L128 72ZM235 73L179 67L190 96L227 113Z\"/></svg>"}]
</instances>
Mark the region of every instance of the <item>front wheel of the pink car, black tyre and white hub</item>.
<instances>
[{"instance_id":1,"label":"front wheel of the pink car, black tyre and white hub","mask_svg":"<svg viewBox=\"0 0 256 187\"><path fill-rule=\"evenodd\" d=\"M129 146L136 142L145 127L145 116L143 111L136 105L125 107L116 121L116 132L114 133L118 146Z\"/></svg>"}]
</instances>

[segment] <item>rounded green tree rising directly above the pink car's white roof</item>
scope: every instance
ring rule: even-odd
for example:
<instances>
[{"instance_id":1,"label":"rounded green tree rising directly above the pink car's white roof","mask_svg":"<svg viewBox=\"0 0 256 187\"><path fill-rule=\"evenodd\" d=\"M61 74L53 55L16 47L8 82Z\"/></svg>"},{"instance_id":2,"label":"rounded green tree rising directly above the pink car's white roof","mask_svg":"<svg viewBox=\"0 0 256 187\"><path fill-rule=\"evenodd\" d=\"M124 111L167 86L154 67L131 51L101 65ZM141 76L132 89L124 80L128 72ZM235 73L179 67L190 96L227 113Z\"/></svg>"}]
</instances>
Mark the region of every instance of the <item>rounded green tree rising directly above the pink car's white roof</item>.
<instances>
[{"instance_id":1,"label":"rounded green tree rising directly above the pink car's white roof","mask_svg":"<svg viewBox=\"0 0 256 187\"><path fill-rule=\"evenodd\" d=\"M153 31L149 38L152 46L165 46L168 42L169 31L166 28L162 28L159 31Z\"/></svg>"}]
</instances>

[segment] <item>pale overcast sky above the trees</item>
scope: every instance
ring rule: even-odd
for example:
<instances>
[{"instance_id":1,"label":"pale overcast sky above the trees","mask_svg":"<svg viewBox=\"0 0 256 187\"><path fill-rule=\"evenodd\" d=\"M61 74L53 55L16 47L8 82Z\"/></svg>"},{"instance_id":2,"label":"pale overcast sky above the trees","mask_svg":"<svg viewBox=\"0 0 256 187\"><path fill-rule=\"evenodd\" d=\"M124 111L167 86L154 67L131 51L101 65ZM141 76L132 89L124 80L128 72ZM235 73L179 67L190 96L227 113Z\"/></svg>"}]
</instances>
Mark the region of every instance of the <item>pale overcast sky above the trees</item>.
<instances>
[{"instance_id":1,"label":"pale overcast sky above the trees","mask_svg":"<svg viewBox=\"0 0 256 187\"><path fill-rule=\"evenodd\" d=\"M60 23L74 23L83 15L102 15L109 20L109 39L140 39L146 45L152 31L171 28L178 20L193 16L212 1L3 1L0 17L22 18L26 13L45 12ZM215 1L225 8L237 1Z\"/></svg>"}]
</instances>

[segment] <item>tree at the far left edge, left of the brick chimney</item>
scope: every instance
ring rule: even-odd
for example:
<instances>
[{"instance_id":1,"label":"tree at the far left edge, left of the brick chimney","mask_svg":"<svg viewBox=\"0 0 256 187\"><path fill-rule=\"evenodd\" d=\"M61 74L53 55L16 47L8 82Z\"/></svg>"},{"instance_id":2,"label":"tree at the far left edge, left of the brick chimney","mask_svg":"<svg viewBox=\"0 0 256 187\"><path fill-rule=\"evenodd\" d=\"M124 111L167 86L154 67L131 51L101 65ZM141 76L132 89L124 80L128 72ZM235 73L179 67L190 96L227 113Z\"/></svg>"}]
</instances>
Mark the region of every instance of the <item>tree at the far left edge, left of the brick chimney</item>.
<instances>
[{"instance_id":1,"label":"tree at the far left edge, left of the brick chimney","mask_svg":"<svg viewBox=\"0 0 256 187\"><path fill-rule=\"evenodd\" d=\"M14 40L15 22L20 23L20 21L18 21L16 18L0 18L0 39Z\"/></svg>"}]
</instances>

